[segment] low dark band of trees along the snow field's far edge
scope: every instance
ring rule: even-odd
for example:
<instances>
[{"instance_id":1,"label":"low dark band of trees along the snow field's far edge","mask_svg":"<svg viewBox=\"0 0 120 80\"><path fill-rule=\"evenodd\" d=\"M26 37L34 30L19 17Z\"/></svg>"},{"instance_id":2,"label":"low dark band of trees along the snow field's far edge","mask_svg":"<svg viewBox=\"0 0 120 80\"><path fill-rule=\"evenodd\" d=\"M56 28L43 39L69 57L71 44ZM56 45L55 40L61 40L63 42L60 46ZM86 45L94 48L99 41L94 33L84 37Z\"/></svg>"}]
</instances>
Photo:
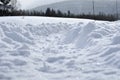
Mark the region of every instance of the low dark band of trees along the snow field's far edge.
<instances>
[{"instance_id":1,"label":"low dark band of trees along the snow field's far edge","mask_svg":"<svg viewBox=\"0 0 120 80\"><path fill-rule=\"evenodd\" d=\"M115 21L117 20L116 15L99 13L96 15L93 14L73 14L70 11L66 13L60 10L54 10L47 8L45 12L38 12L34 10L3 10L0 9L0 16L48 16L48 17L64 17L64 18L84 18L84 19L94 19L94 20L107 20Z\"/></svg>"}]
</instances>

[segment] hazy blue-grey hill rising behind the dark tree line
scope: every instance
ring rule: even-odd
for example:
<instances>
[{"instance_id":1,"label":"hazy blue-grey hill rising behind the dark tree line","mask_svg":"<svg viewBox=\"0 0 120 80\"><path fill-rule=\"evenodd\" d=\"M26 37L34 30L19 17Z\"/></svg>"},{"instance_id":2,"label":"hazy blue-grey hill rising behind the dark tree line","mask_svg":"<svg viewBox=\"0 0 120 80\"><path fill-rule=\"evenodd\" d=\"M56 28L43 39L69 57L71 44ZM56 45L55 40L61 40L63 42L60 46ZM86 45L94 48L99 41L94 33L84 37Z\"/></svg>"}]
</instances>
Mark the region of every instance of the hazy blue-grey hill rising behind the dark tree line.
<instances>
[{"instance_id":1,"label":"hazy blue-grey hill rising behind the dark tree line","mask_svg":"<svg viewBox=\"0 0 120 80\"><path fill-rule=\"evenodd\" d=\"M120 4L120 1L118 1ZM34 8L36 11L45 11L48 7L61 10L62 12L67 12L68 10L71 13L93 13L93 3L92 0L68 0L63 2L57 2L49 5L39 6ZM118 6L120 8L120 6ZM115 14L116 13L116 2L115 0L95 0L95 12L103 12L106 14ZM120 12L120 10L119 10Z\"/></svg>"}]
</instances>

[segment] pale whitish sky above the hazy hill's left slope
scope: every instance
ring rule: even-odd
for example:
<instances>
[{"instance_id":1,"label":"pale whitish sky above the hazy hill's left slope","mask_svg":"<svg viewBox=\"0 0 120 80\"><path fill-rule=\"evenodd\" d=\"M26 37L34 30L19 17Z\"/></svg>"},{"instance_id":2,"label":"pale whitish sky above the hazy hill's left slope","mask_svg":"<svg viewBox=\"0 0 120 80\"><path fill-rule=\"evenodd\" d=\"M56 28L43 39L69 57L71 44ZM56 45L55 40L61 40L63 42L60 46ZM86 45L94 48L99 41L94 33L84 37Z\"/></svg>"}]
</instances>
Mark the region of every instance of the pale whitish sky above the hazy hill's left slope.
<instances>
[{"instance_id":1,"label":"pale whitish sky above the hazy hill's left slope","mask_svg":"<svg viewBox=\"0 0 120 80\"><path fill-rule=\"evenodd\" d=\"M45 5L65 0L19 0L21 3L22 9L29 9L33 7L37 7L38 5Z\"/></svg>"}]
</instances>

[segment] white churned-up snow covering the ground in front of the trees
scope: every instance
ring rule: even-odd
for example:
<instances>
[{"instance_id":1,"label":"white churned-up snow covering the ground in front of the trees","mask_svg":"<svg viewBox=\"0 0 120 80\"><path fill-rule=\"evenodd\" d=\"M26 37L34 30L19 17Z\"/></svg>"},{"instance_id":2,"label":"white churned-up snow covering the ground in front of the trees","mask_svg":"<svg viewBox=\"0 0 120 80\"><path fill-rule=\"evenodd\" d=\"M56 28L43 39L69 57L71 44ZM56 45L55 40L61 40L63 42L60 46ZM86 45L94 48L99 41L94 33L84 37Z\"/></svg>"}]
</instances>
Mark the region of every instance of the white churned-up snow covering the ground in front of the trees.
<instances>
[{"instance_id":1,"label":"white churned-up snow covering the ground in front of the trees","mask_svg":"<svg viewBox=\"0 0 120 80\"><path fill-rule=\"evenodd\" d=\"M120 80L120 22L1 17L0 80Z\"/></svg>"}]
</instances>

